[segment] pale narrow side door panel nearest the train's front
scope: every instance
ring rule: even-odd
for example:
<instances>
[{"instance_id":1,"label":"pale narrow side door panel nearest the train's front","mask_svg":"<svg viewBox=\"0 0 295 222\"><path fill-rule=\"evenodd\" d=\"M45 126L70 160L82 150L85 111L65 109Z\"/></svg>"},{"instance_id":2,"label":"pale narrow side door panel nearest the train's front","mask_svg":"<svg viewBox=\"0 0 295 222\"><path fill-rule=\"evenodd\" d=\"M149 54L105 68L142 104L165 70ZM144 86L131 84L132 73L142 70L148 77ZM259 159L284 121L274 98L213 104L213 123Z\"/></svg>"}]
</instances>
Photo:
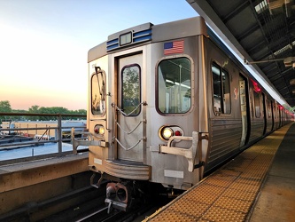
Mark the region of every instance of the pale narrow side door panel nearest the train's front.
<instances>
[{"instance_id":1,"label":"pale narrow side door panel nearest the train's front","mask_svg":"<svg viewBox=\"0 0 295 222\"><path fill-rule=\"evenodd\" d=\"M243 147L247 144L250 136L248 81L243 75L239 76L239 96L242 116L242 137L240 147Z\"/></svg>"}]
</instances>

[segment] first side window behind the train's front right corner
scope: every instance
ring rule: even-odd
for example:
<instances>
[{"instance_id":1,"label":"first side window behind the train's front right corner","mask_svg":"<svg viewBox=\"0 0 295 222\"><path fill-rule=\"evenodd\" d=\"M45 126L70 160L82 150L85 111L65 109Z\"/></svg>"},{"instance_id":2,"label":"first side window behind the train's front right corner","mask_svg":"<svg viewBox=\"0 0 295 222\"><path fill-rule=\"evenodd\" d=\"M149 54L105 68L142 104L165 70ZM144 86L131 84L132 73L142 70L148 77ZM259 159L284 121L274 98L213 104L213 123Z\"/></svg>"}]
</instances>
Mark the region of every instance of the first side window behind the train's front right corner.
<instances>
[{"instance_id":1,"label":"first side window behind the train's front right corner","mask_svg":"<svg viewBox=\"0 0 295 222\"><path fill-rule=\"evenodd\" d=\"M213 109L215 115L230 114L229 73L213 62Z\"/></svg>"}]
</instances>

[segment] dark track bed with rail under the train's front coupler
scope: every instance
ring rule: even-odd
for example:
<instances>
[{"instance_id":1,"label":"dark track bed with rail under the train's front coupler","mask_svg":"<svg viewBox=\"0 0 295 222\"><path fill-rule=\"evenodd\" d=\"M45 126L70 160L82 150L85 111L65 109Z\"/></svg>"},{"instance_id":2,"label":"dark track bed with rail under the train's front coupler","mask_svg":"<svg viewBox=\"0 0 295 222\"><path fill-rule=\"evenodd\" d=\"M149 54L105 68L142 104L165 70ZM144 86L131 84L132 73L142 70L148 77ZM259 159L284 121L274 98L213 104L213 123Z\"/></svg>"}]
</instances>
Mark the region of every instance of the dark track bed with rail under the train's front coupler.
<instances>
[{"instance_id":1,"label":"dark track bed with rail under the train's front coupler","mask_svg":"<svg viewBox=\"0 0 295 222\"><path fill-rule=\"evenodd\" d=\"M86 202L81 202L78 205L62 210L42 221L46 222L129 222L129 221L142 221L145 217L150 216L160 207L166 205L172 200L167 194L163 194L163 190L155 191L153 194L149 194L151 199L148 201L139 201L136 205L136 209L129 210L128 212L108 208L105 206L105 183L102 183L102 187L96 193L97 196L91 196ZM161 193L161 194L159 194ZM140 204L140 206L139 206Z\"/></svg>"}]
</instances>

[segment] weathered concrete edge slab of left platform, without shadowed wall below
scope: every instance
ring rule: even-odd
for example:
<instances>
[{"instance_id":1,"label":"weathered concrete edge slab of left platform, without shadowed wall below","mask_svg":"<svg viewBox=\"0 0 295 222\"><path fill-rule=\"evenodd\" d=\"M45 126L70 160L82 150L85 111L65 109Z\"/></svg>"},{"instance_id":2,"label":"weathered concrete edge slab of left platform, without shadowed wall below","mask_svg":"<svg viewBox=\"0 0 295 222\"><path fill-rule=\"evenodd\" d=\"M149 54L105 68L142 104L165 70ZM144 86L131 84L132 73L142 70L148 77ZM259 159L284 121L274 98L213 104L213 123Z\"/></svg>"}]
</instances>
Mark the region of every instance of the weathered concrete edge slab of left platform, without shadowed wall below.
<instances>
[{"instance_id":1,"label":"weathered concrete edge slab of left platform, without shadowed wall below","mask_svg":"<svg viewBox=\"0 0 295 222\"><path fill-rule=\"evenodd\" d=\"M88 153L0 166L0 197L4 192L89 170ZM1 214L2 208L0 208Z\"/></svg>"}]
</instances>

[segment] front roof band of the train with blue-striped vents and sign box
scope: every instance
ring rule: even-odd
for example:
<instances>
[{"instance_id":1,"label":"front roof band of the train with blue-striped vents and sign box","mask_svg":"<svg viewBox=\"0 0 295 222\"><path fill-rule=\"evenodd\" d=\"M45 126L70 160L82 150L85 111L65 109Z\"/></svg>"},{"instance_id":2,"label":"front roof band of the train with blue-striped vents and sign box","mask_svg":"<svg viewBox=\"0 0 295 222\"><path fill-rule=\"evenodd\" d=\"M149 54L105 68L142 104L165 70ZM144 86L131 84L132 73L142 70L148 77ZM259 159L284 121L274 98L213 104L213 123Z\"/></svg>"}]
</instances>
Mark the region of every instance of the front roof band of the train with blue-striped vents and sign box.
<instances>
[{"instance_id":1,"label":"front roof band of the train with blue-striped vents and sign box","mask_svg":"<svg viewBox=\"0 0 295 222\"><path fill-rule=\"evenodd\" d=\"M192 26L191 24L194 25ZM88 62L100 58L109 52L123 50L127 46L134 47L142 44L198 35L207 36L205 20L200 16L159 25L153 25L151 22L148 22L108 36L105 43L98 44L89 50Z\"/></svg>"}]
</instances>

